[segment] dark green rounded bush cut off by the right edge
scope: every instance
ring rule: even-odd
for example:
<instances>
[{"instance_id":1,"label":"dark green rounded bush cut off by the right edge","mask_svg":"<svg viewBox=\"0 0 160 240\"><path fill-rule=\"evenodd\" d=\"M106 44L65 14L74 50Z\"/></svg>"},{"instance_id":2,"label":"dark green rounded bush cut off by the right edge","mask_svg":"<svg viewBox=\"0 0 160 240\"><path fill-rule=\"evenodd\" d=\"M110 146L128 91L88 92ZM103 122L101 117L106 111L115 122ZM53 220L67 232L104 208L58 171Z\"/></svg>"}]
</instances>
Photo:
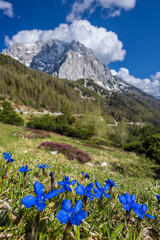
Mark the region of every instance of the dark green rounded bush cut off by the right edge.
<instances>
[{"instance_id":1,"label":"dark green rounded bush cut off by the right edge","mask_svg":"<svg viewBox=\"0 0 160 240\"><path fill-rule=\"evenodd\" d=\"M155 159L160 163L160 135L146 137L142 142L142 147L146 157Z\"/></svg>"}]
</instances>

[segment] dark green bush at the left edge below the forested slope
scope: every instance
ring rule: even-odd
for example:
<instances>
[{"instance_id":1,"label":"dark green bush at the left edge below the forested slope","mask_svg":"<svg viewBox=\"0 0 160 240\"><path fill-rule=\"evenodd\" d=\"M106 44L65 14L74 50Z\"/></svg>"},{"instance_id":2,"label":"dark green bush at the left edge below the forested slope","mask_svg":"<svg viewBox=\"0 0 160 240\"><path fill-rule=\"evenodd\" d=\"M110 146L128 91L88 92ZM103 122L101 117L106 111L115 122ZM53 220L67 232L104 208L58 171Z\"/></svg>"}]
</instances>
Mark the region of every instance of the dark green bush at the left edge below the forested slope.
<instances>
[{"instance_id":1,"label":"dark green bush at the left edge below the forested slope","mask_svg":"<svg viewBox=\"0 0 160 240\"><path fill-rule=\"evenodd\" d=\"M3 110L0 111L0 121L3 123L20 126L24 124L24 120L14 111L10 102L4 101Z\"/></svg>"}]
</instances>

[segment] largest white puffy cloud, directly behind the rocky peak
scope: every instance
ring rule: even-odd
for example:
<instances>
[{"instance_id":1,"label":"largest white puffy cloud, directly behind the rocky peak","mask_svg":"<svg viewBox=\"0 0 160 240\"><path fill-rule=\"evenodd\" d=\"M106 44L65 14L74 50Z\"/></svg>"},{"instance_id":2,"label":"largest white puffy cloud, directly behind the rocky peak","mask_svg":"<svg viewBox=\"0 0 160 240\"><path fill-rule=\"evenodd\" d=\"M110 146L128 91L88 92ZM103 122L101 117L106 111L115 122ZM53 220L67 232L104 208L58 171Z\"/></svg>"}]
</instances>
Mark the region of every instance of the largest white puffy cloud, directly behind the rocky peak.
<instances>
[{"instance_id":1,"label":"largest white puffy cloud, directly behind the rocky peak","mask_svg":"<svg viewBox=\"0 0 160 240\"><path fill-rule=\"evenodd\" d=\"M66 42L76 40L91 48L96 57L104 64L109 64L117 60L122 61L125 56L123 44L119 41L117 34L107 31L105 28L93 26L87 20L77 20L71 24L60 24L54 30L31 30L20 31L9 39L5 37L7 46L13 43L34 43L38 40L48 41L59 39Z\"/></svg>"}]
</instances>

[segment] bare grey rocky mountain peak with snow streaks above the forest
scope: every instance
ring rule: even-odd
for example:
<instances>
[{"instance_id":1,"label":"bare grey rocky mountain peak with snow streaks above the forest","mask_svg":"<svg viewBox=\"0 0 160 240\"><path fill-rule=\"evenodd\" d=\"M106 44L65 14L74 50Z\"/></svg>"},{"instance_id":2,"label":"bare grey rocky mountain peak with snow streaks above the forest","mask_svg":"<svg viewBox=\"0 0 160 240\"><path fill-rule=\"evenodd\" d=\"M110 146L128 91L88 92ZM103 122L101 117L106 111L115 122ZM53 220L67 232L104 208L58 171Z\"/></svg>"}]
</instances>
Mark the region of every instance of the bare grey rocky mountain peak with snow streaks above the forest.
<instances>
[{"instance_id":1,"label":"bare grey rocky mountain peak with snow streaks above the forest","mask_svg":"<svg viewBox=\"0 0 160 240\"><path fill-rule=\"evenodd\" d=\"M57 39L45 43L16 43L10 51L3 50L3 54L19 60L27 67L58 78L73 81L81 78L92 79L110 91L121 92L109 68L96 58L91 49L74 40L70 43ZM127 88L128 84L123 82L124 85Z\"/></svg>"}]
</instances>

